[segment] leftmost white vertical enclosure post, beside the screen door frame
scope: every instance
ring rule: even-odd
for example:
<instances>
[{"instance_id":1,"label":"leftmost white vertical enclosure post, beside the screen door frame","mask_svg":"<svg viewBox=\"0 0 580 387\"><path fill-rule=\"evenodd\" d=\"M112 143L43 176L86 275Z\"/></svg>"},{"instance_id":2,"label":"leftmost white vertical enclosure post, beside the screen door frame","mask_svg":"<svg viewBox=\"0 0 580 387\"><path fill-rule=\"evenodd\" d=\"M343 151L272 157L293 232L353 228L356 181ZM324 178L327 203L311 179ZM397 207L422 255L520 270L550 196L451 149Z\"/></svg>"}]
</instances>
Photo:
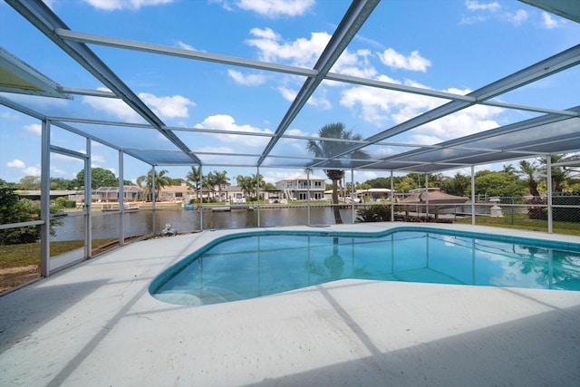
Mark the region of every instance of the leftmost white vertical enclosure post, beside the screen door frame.
<instances>
[{"instance_id":1,"label":"leftmost white vertical enclosure post, beside the screen door frame","mask_svg":"<svg viewBox=\"0 0 580 387\"><path fill-rule=\"evenodd\" d=\"M50 276L50 232L51 232L51 181L50 181L50 121L42 123L42 150L41 150L41 175L40 175L40 218L43 224L40 226L40 275Z\"/></svg>"}]
</instances>

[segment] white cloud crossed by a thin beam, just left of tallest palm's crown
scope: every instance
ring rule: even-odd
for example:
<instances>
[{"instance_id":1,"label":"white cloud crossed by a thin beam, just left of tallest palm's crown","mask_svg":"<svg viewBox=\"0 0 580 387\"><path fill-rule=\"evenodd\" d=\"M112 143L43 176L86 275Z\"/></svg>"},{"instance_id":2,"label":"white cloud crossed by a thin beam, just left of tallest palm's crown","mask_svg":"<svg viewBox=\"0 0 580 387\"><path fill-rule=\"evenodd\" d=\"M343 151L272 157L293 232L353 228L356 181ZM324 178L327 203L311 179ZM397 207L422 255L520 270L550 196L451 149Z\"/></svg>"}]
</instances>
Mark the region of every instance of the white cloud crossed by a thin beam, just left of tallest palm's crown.
<instances>
[{"instance_id":1,"label":"white cloud crossed by a thin beam, just left of tallest palm's crown","mask_svg":"<svg viewBox=\"0 0 580 387\"><path fill-rule=\"evenodd\" d=\"M247 133L272 133L272 131L254 128L251 125L237 125L234 118L227 114L217 114L207 117L204 121L198 123L195 128L198 129L215 129L218 131L245 131ZM226 142L237 142L250 147L264 147L270 140L266 136L240 136L237 134L215 134L219 140Z\"/></svg>"}]
</instances>

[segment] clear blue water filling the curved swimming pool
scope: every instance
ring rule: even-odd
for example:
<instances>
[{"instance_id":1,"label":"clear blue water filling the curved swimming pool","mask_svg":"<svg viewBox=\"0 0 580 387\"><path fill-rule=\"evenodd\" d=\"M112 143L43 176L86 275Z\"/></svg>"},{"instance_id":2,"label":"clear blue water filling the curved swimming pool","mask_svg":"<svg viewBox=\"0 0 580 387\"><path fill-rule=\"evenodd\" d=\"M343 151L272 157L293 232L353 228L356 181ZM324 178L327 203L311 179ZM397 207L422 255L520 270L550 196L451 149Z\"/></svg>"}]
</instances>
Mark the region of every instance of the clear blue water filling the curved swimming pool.
<instances>
[{"instance_id":1,"label":"clear blue water filling the curved swimming pool","mask_svg":"<svg viewBox=\"0 0 580 387\"><path fill-rule=\"evenodd\" d=\"M150 293L172 304L206 305L342 278L580 291L580 245L412 227L242 233L169 267Z\"/></svg>"}]
</instances>

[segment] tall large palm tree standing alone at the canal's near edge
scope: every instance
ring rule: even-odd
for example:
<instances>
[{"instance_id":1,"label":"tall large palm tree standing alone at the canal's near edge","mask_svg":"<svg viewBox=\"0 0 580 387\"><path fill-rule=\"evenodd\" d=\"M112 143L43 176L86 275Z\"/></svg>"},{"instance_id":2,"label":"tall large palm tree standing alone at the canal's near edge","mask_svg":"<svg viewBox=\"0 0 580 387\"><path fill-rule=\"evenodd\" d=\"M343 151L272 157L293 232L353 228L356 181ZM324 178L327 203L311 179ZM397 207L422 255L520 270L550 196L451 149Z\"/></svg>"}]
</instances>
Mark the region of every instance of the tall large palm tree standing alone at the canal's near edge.
<instances>
[{"instance_id":1,"label":"tall large palm tree standing alone at the canal's near edge","mask_svg":"<svg viewBox=\"0 0 580 387\"><path fill-rule=\"evenodd\" d=\"M333 141L324 139L338 139L338 140L362 140L360 134L353 135L353 131L346 131L344 124L342 122L329 123L324 125L320 131L318 131L318 136L320 140L308 140L307 149L310 153L314 154L315 157L329 158L338 153L343 152L348 149L352 144L345 141ZM352 158L352 159L368 159L369 155L363 150L355 150L353 153L341 156L342 158ZM340 208L336 206L338 204L338 183L344 177L343 169L324 169L324 173L333 182L333 211L334 211L334 222L336 224L342 224L343 219L341 218Z\"/></svg>"}]
</instances>

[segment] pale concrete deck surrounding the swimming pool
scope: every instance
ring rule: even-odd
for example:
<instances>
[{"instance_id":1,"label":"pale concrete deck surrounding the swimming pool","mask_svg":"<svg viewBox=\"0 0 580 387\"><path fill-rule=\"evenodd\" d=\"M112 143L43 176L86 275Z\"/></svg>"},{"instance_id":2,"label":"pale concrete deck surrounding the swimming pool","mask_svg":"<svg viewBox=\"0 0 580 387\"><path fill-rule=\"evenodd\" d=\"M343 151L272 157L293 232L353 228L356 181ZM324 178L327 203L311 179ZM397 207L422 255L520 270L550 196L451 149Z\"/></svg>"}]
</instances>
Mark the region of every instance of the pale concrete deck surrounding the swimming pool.
<instances>
[{"instance_id":1,"label":"pale concrete deck surrounding the swimming pool","mask_svg":"<svg viewBox=\"0 0 580 387\"><path fill-rule=\"evenodd\" d=\"M580 243L580 237L461 229ZM341 280L200 307L164 304L149 294L164 268L231 232L131 243L0 297L0 386L580 381L580 292Z\"/></svg>"}]
</instances>

